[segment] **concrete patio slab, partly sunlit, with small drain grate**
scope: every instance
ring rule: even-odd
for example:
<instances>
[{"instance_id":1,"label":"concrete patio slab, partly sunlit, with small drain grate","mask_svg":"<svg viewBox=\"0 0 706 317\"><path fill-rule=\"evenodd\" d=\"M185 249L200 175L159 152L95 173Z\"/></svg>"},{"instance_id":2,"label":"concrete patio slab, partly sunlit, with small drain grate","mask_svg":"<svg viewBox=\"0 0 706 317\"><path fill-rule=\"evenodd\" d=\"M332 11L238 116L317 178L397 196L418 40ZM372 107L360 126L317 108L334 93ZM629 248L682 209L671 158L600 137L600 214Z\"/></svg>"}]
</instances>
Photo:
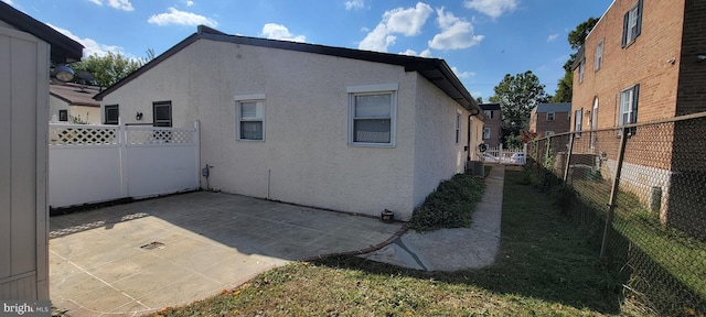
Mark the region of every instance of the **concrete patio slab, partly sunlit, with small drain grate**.
<instances>
[{"instance_id":1,"label":"concrete patio slab, partly sunlit, with small drain grate","mask_svg":"<svg viewBox=\"0 0 706 317\"><path fill-rule=\"evenodd\" d=\"M52 217L50 295L68 316L137 316L218 294L290 261L374 249L402 228L205 192Z\"/></svg>"}]
</instances>

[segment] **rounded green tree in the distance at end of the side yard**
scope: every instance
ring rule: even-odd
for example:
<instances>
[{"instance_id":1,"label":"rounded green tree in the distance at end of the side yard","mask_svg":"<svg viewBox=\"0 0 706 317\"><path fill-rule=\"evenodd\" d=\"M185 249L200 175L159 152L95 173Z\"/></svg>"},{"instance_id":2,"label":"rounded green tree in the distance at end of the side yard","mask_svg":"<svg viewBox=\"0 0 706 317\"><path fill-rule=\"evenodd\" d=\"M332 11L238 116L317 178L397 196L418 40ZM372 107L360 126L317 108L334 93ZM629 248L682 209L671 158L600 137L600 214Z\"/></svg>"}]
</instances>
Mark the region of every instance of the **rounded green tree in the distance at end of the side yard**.
<instances>
[{"instance_id":1,"label":"rounded green tree in the distance at end of the side yard","mask_svg":"<svg viewBox=\"0 0 706 317\"><path fill-rule=\"evenodd\" d=\"M507 144L509 141L518 146L520 131L528 130L530 114L537 105L547 102L549 96L544 91L544 85L539 78L527 70L512 76L506 74L493 90L495 95L490 97L491 102L499 102L502 110L502 138Z\"/></svg>"}]
</instances>

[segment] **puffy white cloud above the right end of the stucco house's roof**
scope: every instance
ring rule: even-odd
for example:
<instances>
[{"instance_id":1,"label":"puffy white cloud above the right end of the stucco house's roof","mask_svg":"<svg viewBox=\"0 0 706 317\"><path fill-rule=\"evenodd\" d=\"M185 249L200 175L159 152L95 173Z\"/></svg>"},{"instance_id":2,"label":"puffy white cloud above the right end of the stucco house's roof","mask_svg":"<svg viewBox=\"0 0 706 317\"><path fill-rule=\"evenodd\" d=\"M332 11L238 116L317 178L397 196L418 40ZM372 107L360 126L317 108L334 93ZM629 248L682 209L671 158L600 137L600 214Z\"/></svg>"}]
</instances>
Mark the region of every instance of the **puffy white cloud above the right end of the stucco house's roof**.
<instances>
[{"instance_id":1,"label":"puffy white cloud above the right end of the stucco house's roof","mask_svg":"<svg viewBox=\"0 0 706 317\"><path fill-rule=\"evenodd\" d=\"M453 13L445 13L443 8L437 9L437 22L441 33L434 35L429 41L429 47L435 50L460 50L471 47L483 40L483 35L475 35L473 24L453 17Z\"/></svg>"}]
</instances>

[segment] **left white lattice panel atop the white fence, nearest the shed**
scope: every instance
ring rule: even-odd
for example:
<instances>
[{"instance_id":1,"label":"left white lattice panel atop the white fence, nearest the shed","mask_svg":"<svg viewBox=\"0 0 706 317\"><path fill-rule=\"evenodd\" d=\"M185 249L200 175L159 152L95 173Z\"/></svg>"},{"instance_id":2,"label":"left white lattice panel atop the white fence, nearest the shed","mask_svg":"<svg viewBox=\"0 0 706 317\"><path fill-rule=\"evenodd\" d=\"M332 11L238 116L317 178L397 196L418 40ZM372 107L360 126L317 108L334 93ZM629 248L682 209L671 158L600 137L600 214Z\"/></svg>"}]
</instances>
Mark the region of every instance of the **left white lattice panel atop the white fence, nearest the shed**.
<instances>
[{"instance_id":1,"label":"left white lattice panel atop the white fence, nearest the shed","mask_svg":"<svg viewBox=\"0 0 706 317\"><path fill-rule=\"evenodd\" d=\"M117 132L117 127L50 125L49 140L52 145L118 144Z\"/></svg>"}]
</instances>

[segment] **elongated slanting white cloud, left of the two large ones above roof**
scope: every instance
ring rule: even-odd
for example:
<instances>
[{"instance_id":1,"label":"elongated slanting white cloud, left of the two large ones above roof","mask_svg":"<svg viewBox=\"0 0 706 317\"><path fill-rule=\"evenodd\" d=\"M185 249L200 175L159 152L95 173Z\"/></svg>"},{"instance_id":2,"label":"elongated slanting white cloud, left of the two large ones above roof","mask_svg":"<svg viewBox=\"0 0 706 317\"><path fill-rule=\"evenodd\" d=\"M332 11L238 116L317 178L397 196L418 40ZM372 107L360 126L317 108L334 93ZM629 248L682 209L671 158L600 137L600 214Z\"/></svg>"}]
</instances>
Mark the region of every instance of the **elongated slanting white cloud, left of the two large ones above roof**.
<instances>
[{"instance_id":1,"label":"elongated slanting white cloud, left of the two large ones above roof","mask_svg":"<svg viewBox=\"0 0 706 317\"><path fill-rule=\"evenodd\" d=\"M394 33L414 36L421 32L434 9L426 3L417 3L414 8L397 8L386 11L383 20L373 31L367 33L359 44L360 50L387 52L387 46L397 39Z\"/></svg>"}]
</instances>

